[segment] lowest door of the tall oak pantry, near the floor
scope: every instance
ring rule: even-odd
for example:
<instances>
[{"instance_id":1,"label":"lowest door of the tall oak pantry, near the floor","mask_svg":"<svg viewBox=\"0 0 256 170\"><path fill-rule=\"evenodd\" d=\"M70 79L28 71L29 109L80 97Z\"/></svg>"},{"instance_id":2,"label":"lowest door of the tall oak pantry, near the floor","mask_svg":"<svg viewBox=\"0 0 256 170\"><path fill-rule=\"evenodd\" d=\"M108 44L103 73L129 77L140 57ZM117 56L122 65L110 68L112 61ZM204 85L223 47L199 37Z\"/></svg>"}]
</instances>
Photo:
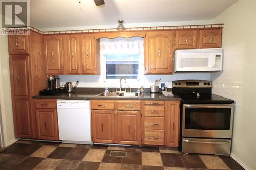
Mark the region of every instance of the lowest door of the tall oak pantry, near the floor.
<instances>
[{"instance_id":1,"label":"lowest door of the tall oak pantry, near the floor","mask_svg":"<svg viewBox=\"0 0 256 170\"><path fill-rule=\"evenodd\" d=\"M32 138L29 100L14 99L12 102L15 136Z\"/></svg>"}]
</instances>

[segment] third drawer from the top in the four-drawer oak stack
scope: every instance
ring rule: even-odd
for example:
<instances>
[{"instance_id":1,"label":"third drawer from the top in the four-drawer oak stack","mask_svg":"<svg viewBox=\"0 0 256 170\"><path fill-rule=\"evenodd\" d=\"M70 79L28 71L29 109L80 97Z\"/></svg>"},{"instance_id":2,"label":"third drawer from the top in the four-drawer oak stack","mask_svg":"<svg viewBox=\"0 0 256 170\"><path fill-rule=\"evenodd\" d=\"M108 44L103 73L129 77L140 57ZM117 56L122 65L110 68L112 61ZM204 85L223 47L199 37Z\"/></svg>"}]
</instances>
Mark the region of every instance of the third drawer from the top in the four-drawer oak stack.
<instances>
[{"instance_id":1,"label":"third drawer from the top in the four-drawer oak stack","mask_svg":"<svg viewBox=\"0 0 256 170\"><path fill-rule=\"evenodd\" d=\"M145 129L163 130L164 118L163 117L145 117L144 127Z\"/></svg>"}]
</instances>

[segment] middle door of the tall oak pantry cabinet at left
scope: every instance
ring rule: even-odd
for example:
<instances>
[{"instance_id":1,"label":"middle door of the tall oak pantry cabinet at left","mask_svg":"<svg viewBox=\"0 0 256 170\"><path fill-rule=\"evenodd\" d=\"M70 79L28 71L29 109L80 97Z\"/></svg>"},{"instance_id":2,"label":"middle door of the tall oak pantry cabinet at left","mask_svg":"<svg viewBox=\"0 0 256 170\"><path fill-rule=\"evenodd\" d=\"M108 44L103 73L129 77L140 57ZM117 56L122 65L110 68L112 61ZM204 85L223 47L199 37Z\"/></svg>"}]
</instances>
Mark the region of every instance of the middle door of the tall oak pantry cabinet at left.
<instances>
[{"instance_id":1,"label":"middle door of the tall oak pantry cabinet at left","mask_svg":"<svg viewBox=\"0 0 256 170\"><path fill-rule=\"evenodd\" d=\"M28 96L28 57L11 57L10 72L13 95Z\"/></svg>"}]
</instances>

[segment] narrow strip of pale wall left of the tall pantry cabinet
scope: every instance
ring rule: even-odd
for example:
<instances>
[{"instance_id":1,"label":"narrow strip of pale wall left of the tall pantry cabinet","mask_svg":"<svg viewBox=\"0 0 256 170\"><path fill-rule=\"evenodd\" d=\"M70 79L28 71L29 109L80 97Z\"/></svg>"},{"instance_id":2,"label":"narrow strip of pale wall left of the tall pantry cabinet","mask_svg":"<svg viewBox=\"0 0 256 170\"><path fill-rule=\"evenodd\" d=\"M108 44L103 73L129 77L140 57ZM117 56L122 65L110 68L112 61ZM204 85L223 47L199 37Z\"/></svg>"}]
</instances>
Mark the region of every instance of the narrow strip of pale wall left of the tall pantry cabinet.
<instances>
[{"instance_id":1,"label":"narrow strip of pale wall left of the tall pantry cabinet","mask_svg":"<svg viewBox=\"0 0 256 170\"><path fill-rule=\"evenodd\" d=\"M7 75L4 75L4 70L7 70ZM7 146L15 141L15 135L12 116L8 39L4 35L0 35L0 91L4 145Z\"/></svg>"}]
</instances>

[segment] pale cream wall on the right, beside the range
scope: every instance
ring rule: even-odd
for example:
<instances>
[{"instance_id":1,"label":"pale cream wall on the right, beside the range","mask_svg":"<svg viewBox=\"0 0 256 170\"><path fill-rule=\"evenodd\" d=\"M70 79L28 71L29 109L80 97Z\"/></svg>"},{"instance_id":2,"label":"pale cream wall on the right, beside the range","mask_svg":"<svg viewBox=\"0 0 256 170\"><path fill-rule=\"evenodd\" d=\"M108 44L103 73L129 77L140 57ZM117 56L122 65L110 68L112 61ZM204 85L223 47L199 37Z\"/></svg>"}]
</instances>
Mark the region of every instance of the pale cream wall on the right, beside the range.
<instances>
[{"instance_id":1,"label":"pale cream wall on the right, beside the range","mask_svg":"<svg viewBox=\"0 0 256 170\"><path fill-rule=\"evenodd\" d=\"M231 156L246 169L256 169L255 2L239 0L214 19L224 23L224 61L211 74L213 92L236 102Z\"/></svg>"}]
</instances>

